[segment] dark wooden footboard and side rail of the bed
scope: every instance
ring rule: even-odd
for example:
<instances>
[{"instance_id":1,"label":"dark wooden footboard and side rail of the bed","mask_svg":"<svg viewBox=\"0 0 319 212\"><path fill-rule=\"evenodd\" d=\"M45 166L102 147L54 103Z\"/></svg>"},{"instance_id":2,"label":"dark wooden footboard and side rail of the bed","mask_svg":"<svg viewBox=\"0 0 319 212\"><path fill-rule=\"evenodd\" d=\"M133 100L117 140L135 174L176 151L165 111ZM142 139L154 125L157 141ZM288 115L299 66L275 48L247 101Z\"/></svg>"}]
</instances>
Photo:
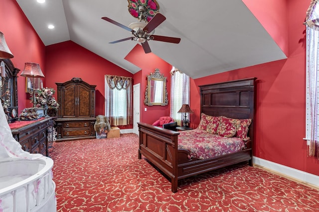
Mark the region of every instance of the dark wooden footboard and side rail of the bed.
<instances>
[{"instance_id":1,"label":"dark wooden footboard and side rail of the bed","mask_svg":"<svg viewBox=\"0 0 319 212\"><path fill-rule=\"evenodd\" d=\"M171 179L171 191L177 192L178 180L201 174L207 171L249 160L252 151L240 152L213 157L209 159L188 159L189 152L178 149L178 132L162 129L145 123L138 123L139 159L142 154Z\"/></svg>"}]
</instances>

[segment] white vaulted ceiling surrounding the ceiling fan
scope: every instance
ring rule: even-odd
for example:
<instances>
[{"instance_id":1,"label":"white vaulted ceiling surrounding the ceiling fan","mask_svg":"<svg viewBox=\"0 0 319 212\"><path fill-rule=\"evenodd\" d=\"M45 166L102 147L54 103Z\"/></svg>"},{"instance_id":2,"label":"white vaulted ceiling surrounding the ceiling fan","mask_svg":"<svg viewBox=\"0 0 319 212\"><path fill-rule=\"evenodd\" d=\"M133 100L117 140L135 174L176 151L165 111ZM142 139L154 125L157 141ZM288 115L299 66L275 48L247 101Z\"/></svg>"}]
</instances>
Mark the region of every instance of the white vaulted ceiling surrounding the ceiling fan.
<instances>
[{"instance_id":1,"label":"white vaulted ceiling surrounding the ceiling fan","mask_svg":"<svg viewBox=\"0 0 319 212\"><path fill-rule=\"evenodd\" d=\"M127 0L16 1L45 46L71 40L131 73L141 70L124 59L136 41L108 43L131 37L130 32L101 19L125 26L136 22ZM157 1L166 20L155 34L181 41L149 41L152 53L192 78L286 58L241 0Z\"/></svg>"}]
</instances>

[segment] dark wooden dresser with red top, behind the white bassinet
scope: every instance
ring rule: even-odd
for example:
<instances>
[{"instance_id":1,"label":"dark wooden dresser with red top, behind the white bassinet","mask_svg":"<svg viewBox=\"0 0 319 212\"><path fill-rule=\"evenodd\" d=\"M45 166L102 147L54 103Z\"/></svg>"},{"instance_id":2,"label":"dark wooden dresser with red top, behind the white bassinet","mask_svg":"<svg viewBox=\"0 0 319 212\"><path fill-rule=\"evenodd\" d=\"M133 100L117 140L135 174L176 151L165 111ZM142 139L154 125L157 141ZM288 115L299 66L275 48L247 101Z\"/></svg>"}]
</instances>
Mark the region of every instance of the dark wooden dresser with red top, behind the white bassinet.
<instances>
[{"instance_id":1,"label":"dark wooden dresser with red top, behind the white bassinet","mask_svg":"<svg viewBox=\"0 0 319 212\"><path fill-rule=\"evenodd\" d=\"M20 121L21 124L23 122ZM24 151L48 156L48 146L51 146L53 141L53 122L53 118L44 118L26 121L25 125L17 128L10 125L10 128L13 138L21 144Z\"/></svg>"}]
</instances>

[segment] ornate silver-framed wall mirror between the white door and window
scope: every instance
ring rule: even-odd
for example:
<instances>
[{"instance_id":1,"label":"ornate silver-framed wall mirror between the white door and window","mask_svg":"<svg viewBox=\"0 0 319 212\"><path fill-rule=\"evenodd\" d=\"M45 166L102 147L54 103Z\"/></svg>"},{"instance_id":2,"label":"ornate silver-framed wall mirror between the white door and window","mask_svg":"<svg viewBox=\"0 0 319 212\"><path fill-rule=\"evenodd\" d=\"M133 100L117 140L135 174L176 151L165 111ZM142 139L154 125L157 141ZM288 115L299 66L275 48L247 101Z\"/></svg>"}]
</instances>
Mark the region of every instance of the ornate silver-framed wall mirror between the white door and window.
<instances>
[{"instance_id":1,"label":"ornate silver-framed wall mirror between the white door and window","mask_svg":"<svg viewBox=\"0 0 319 212\"><path fill-rule=\"evenodd\" d=\"M148 84L145 91L144 104L148 106L168 104L166 77L156 69L154 73L147 75Z\"/></svg>"}]
</instances>

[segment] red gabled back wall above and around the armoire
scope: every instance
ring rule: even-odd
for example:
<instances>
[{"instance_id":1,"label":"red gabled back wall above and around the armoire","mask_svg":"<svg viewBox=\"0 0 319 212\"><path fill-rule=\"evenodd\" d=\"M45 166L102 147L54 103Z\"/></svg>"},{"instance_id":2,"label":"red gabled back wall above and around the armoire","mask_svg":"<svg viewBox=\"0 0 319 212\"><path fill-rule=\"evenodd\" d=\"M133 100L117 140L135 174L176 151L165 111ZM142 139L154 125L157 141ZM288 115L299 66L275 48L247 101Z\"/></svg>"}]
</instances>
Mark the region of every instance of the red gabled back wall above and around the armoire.
<instances>
[{"instance_id":1,"label":"red gabled back wall above and around the armoire","mask_svg":"<svg viewBox=\"0 0 319 212\"><path fill-rule=\"evenodd\" d=\"M96 85L95 114L104 115L104 75L133 77L133 74L88 51L72 41L46 47L46 84L56 90L55 82L65 82L72 77ZM56 95L56 94L55 94Z\"/></svg>"}]
</instances>

